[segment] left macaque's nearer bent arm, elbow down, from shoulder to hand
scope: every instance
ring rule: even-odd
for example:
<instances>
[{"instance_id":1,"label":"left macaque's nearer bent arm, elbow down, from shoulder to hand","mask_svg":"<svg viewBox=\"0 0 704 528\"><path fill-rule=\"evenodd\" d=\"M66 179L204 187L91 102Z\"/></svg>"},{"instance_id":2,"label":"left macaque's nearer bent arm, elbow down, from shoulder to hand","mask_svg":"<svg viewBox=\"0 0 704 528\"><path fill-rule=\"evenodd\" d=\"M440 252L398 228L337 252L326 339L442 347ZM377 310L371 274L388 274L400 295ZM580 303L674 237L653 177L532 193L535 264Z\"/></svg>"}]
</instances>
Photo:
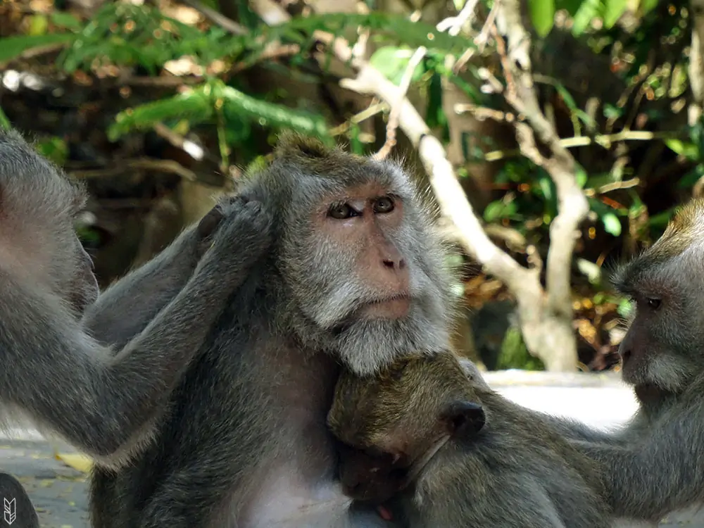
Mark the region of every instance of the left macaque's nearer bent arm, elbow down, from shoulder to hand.
<instances>
[{"instance_id":1,"label":"left macaque's nearer bent arm, elbow down, from shoulder to hand","mask_svg":"<svg viewBox=\"0 0 704 528\"><path fill-rule=\"evenodd\" d=\"M186 287L114 358L56 296L0 275L0 401L87 453L129 454L127 444L149 435L230 295L268 248L269 226L255 203L228 218Z\"/></svg>"}]
</instances>

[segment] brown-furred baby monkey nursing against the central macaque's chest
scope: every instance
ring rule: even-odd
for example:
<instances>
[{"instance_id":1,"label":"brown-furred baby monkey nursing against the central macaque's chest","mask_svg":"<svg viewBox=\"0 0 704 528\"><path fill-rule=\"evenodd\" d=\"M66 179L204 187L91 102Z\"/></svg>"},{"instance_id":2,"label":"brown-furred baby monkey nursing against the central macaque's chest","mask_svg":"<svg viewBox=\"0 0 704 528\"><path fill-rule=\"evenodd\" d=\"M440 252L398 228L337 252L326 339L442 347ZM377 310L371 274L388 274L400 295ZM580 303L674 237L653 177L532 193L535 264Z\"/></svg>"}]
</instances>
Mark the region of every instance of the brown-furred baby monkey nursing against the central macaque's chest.
<instances>
[{"instance_id":1,"label":"brown-furred baby monkey nursing against the central macaque's chest","mask_svg":"<svg viewBox=\"0 0 704 528\"><path fill-rule=\"evenodd\" d=\"M410 528L610 526L593 460L451 352L343 372L327 420L344 493Z\"/></svg>"}]
</instances>

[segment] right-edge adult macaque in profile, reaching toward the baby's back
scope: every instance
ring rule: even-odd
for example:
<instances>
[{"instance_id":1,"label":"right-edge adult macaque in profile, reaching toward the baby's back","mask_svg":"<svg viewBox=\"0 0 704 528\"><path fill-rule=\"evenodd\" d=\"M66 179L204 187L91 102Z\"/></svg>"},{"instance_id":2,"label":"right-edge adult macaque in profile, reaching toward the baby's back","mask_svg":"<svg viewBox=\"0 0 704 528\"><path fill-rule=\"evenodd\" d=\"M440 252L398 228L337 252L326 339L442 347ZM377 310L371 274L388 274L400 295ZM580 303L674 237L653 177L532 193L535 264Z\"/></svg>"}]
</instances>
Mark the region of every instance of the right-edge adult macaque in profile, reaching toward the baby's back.
<instances>
[{"instance_id":1,"label":"right-edge adult macaque in profile, reaching toward the baby's back","mask_svg":"<svg viewBox=\"0 0 704 528\"><path fill-rule=\"evenodd\" d=\"M603 463L615 513L655 522L704 503L704 201L686 204L614 284L636 308L619 352L640 408L614 441L579 445Z\"/></svg>"}]
</instances>

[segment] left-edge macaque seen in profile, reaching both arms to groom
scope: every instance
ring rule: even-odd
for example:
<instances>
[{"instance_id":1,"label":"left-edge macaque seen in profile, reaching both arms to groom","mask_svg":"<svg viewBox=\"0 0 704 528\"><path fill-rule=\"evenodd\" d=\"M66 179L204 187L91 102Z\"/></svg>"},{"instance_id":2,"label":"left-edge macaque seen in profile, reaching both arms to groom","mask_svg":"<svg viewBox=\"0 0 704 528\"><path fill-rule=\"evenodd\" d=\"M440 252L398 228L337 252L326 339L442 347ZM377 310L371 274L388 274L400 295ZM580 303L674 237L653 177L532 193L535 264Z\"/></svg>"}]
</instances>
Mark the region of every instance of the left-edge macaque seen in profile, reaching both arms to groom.
<instances>
[{"instance_id":1,"label":"left-edge macaque seen in profile, reaching both arms to groom","mask_svg":"<svg viewBox=\"0 0 704 528\"><path fill-rule=\"evenodd\" d=\"M79 320L97 294L91 260L73 230L84 200L84 190L19 134L0 132L0 404L4 414L19 411L100 463L119 465L153 434L170 391L267 248L271 218L260 203L238 199L184 232L175 243L180 264L171 250L165 255L189 278L179 278L182 289L163 310L153 308L163 301L158 294L144 307L138 296L129 310L127 302L139 284L175 287L170 277L156 277L159 260L127 280L124 314L108 310L120 304L116 290L92 308L93 327L102 327L108 342L134 324L131 318L150 318L111 348ZM108 329L101 317L118 322Z\"/></svg>"}]
</instances>

